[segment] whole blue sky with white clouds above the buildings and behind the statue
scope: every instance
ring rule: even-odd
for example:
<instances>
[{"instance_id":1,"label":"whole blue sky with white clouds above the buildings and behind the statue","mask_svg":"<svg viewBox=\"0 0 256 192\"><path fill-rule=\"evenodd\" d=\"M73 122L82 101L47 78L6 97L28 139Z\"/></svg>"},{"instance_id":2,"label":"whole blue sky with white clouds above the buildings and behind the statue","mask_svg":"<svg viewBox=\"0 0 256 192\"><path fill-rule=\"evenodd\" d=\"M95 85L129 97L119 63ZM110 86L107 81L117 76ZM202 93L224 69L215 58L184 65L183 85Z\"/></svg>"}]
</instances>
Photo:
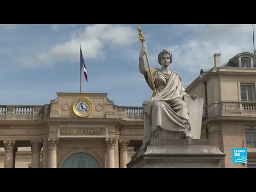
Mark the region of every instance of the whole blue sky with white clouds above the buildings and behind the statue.
<instances>
[{"instance_id":1,"label":"whole blue sky with white clouds above the buildings and behind the statue","mask_svg":"<svg viewBox=\"0 0 256 192\"><path fill-rule=\"evenodd\" d=\"M79 93L81 44L89 81L82 74L82 92L107 93L118 106L142 106L153 91L139 71L137 26L150 67L161 68L159 52L171 51L170 70L185 88L202 68L214 67L214 53L221 54L221 64L253 53L252 24L1 24L0 105L45 105L58 92Z\"/></svg>"}]
</instances>

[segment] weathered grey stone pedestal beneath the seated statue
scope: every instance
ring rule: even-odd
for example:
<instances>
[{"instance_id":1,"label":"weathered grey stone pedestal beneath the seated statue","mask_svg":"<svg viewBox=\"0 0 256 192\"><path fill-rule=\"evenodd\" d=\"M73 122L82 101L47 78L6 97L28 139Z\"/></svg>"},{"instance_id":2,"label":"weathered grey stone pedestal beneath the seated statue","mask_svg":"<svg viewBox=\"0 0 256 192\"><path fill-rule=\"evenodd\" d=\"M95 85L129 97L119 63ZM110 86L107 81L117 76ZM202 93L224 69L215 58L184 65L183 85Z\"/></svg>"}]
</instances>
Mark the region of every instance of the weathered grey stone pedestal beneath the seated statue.
<instances>
[{"instance_id":1,"label":"weathered grey stone pedestal beneath the seated statue","mask_svg":"<svg viewBox=\"0 0 256 192\"><path fill-rule=\"evenodd\" d=\"M144 149L145 150L145 149ZM217 168L225 159L207 139L174 139L148 145L132 157L128 168Z\"/></svg>"}]
</instances>

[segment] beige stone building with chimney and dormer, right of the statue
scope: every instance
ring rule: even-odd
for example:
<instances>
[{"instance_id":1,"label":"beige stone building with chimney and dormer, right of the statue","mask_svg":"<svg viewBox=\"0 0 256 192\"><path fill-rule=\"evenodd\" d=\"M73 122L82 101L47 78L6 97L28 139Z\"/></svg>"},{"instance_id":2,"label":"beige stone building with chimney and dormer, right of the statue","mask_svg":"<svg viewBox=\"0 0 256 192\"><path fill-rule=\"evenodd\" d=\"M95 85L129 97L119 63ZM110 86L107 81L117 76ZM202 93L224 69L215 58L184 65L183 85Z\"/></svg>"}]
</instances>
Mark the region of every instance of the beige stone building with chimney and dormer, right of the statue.
<instances>
[{"instance_id":1,"label":"beige stone building with chimney and dormer, right of the statue","mask_svg":"<svg viewBox=\"0 0 256 192\"><path fill-rule=\"evenodd\" d=\"M256 167L255 61L244 52L221 65L220 54L214 54L214 67L201 69L186 89L204 99L201 138L226 153L220 167ZM233 164L233 148L247 148L247 164Z\"/></svg>"}]
</instances>

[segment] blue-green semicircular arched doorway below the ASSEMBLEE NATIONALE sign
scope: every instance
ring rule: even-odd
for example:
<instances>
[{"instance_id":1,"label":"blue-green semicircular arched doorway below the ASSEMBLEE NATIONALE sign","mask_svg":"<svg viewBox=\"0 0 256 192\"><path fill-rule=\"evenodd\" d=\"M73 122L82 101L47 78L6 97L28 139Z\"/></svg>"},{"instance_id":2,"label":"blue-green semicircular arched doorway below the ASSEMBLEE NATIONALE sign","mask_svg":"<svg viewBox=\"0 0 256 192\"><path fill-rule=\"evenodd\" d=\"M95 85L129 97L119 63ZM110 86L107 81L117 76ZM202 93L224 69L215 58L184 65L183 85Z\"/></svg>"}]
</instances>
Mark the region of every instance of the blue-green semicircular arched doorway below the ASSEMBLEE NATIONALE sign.
<instances>
[{"instance_id":1,"label":"blue-green semicircular arched doorway below the ASSEMBLEE NATIONALE sign","mask_svg":"<svg viewBox=\"0 0 256 192\"><path fill-rule=\"evenodd\" d=\"M62 168L100 168L100 165L97 159L88 153L75 153L65 160Z\"/></svg>"}]
</instances>

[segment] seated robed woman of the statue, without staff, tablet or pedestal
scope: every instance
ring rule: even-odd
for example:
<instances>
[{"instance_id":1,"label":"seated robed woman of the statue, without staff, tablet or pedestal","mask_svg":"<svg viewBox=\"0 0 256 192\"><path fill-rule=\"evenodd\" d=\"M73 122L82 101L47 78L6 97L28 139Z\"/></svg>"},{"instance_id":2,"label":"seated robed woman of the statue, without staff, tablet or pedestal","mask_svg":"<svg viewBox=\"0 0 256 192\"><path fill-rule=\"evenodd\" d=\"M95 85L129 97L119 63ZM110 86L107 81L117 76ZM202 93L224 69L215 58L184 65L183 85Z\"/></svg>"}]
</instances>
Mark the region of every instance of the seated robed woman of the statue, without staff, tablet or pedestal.
<instances>
[{"instance_id":1,"label":"seated robed woman of the statue, without staff, tablet or pedestal","mask_svg":"<svg viewBox=\"0 0 256 192\"><path fill-rule=\"evenodd\" d=\"M145 76L150 89L156 90L144 107L144 140L143 145L150 140L170 140L192 138L187 103L184 96L187 95L181 83L181 77L174 71L169 71L172 63L172 53L163 50L158 54L158 63L161 69L151 68L154 84L151 82L149 69L146 68L143 56L147 53L147 45L142 43L139 55L140 73ZM196 95L190 95L194 100Z\"/></svg>"}]
</instances>

